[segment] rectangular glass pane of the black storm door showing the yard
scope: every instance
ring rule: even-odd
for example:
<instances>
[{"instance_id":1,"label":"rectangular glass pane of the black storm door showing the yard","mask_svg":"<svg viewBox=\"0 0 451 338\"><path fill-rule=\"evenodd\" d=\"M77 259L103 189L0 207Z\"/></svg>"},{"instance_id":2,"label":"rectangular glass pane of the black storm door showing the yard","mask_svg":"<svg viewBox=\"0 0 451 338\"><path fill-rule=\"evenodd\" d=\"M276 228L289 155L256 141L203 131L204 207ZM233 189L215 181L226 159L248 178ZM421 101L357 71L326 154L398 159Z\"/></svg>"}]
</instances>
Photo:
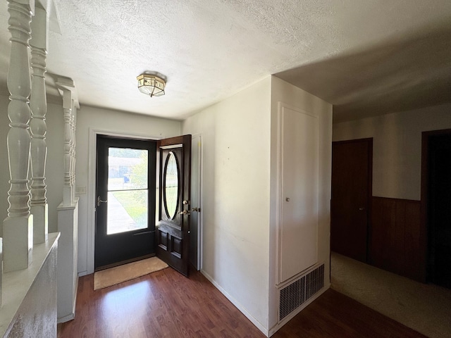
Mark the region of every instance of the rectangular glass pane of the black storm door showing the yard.
<instances>
[{"instance_id":1,"label":"rectangular glass pane of the black storm door showing the yard","mask_svg":"<svg viewBox=\"0 0 451 338\"><path fill-rule=\"evenodd\" d=\"M148 151L109 148L106 234L147 227Z\"/></svg>"}]
</instances>

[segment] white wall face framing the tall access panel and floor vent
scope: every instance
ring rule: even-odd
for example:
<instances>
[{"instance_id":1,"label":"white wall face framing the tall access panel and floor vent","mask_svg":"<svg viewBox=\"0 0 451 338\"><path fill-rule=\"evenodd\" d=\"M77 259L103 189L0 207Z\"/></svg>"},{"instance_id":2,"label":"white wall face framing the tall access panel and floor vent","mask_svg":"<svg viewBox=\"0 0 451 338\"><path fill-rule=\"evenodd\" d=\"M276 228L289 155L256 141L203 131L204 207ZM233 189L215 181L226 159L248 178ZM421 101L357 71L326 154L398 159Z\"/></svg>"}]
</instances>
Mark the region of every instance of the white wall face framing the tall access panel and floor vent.
<instances>
[{"instance_id":1,"label":"white wall face framing the tall access panel and floor vent","mask_svg":"<svg viewBox=\"0 0 451 338\"><path fill-rule=\"evenodd\" d=\"M278 189L278 102L303 109L319 118L319 228L318 262L324 263L324 285L330 284L328 274L330 265L330 180L331 180L331 141L332 105L318 97L299 89L288 82L272 77L271 84L271 235L269 258L269 327L277 323L278 290L277 280L277 189ZM302 245L302 241L299 242ZM293 258L296 259L296 258Z\"/></svg>"}]
</instances>

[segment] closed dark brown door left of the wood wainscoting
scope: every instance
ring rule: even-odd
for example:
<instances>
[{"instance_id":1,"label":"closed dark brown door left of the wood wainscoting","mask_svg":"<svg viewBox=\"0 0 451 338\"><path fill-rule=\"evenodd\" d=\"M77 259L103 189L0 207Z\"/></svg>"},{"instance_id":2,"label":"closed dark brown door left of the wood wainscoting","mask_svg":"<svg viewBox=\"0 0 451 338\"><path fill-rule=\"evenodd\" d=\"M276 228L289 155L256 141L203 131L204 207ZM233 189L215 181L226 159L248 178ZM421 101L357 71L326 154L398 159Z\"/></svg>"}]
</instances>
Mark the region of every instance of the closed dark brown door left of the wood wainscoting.
<instances>
[{"instance_id":1,"label":"closed dark brown door left of the wood wainscoting","mask_svg":"<svg viewBox=\"0 0 451 338\"><path fill-rule=\"evenodd\" d=\"M332 143L330 249L368 261L373 140Z\"/></svg>"}]
</instances>

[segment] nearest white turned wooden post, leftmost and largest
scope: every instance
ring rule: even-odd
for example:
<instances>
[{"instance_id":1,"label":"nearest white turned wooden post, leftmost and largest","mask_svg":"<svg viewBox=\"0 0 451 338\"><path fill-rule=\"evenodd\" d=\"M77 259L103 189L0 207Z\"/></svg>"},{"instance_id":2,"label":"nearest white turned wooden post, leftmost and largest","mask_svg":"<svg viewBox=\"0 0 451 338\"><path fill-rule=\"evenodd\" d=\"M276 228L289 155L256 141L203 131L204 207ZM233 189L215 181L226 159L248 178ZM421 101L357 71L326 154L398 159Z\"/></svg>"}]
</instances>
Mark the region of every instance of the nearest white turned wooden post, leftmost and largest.
<instances>
[{"instance_id":1,"label":"nearest white turned wooden post, leftmost and largest","mask_svg":"<svg viewBox=\"0 0 451 338\"><path fill-rule=\"evenodd\" d=\"M8 1L8 30L11 33L11 56L8 69L10 92L7 137L9 175L8 217L3 223L4 271L25 269L31 263L33 246L33 216L30 215L28 166L30 165L30 39L31 11L34 1Z\"/></svg>"}]
</instances>

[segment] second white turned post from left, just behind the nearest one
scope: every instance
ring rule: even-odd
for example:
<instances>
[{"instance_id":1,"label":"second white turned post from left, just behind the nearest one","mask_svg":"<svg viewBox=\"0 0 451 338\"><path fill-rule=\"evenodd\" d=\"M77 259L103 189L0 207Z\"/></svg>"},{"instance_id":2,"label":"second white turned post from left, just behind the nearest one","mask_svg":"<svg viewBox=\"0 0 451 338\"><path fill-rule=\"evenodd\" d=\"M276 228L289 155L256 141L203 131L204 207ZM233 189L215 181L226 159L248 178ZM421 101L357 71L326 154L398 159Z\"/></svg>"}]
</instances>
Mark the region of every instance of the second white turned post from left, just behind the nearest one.
<instances>
[{"instance_id":1,"label":"second white turned post from left, just behind the nearest one","mask_svg":"<svg viewBox=\"0 0 451 338\"><path fill-rule=\"evenodd\" d=\"M42 8L35 9L32 18L31 66L32 89L31 108L31 213L33 215L33 242L44 243L49 233L47 185L45 184L45 165L47 160L47 143L45 136L47 125L47 97L45 88L46 56L47 56L47 13Z\"/></svg>"}]
</instances>

